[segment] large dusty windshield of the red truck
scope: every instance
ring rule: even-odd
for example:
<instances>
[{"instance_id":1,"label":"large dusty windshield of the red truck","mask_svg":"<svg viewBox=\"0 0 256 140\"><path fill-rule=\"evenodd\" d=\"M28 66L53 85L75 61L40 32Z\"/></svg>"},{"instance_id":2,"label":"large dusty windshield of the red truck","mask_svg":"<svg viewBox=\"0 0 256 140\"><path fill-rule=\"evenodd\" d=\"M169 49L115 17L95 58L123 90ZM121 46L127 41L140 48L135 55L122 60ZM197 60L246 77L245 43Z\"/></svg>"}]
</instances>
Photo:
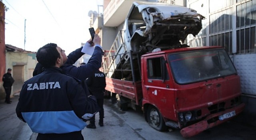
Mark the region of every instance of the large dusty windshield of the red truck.
<instances>
[{"instance_id":1,"label":"large dusty windshield of the red truck","mask_svg":"<svg viewBox=\"0 0 256 140\"><path fill-rule=\"evenodd\" d=\"M169 54L170 68L178 84L188 84L236 74L224 49Z\"/></svg>"}]
</instances>

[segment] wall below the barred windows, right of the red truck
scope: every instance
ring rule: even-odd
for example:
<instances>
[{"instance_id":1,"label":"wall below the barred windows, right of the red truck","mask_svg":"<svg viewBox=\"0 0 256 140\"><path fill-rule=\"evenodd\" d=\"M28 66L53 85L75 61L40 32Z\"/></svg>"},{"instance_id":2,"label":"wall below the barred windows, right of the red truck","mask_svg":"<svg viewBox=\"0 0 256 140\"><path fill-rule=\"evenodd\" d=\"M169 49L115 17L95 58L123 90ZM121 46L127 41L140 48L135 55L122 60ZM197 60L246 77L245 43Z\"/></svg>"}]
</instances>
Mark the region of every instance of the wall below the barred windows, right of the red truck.
<instances>
[{"instance_id":1,"label":"wall below the barred windows, right of the red truck","mask_svg":"<svg viewBox=\"0 0 256 140\"><path fill-rule=\"evenodd\" d=\"M246 104L241 122L256 126L256 54L231 57L241 78L242 102Z\"/></svg>"}]
</instances>

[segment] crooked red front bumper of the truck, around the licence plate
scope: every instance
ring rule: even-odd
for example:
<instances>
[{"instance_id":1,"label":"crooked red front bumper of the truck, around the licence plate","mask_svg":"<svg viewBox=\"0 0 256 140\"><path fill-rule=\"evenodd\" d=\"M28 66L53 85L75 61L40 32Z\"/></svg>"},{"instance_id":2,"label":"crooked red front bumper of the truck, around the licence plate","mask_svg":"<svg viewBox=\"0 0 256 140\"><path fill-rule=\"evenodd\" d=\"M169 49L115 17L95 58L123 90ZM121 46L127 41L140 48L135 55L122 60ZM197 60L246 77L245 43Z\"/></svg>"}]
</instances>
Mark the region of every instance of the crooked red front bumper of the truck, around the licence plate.
<instances>
[{"instance_id":1,"label":"crooked red front bumper of the truck, around the licence plate","mask_svg":"<svg viewBox=\"0 0 256 140\"><path fill-rule=\"evenodd\" d=\"M230 108L230 109L222 111L222 112L211 114L211 115L207 116L204 120L202 120L196 124L192 124L188 127L182 128L182 130L180 130L180 133L182 134L182 136L184 138L190 138L192 136L195 136L208 128L212 128L214 126L217 126L219 124L222 124L223 122L226 122L226 121L234 118L234 116L232 116L230 118L226 118L224 120L218 119L215 122L210 122L210 123L208 123L208 120L211 120L212 118L218 118L218 116L232 112L232 111L235 111L236 112L235 116L237 116L244 110L244 106L245 106L245 104L242 103L234 108Z\"/></svg>"}]
</instances>

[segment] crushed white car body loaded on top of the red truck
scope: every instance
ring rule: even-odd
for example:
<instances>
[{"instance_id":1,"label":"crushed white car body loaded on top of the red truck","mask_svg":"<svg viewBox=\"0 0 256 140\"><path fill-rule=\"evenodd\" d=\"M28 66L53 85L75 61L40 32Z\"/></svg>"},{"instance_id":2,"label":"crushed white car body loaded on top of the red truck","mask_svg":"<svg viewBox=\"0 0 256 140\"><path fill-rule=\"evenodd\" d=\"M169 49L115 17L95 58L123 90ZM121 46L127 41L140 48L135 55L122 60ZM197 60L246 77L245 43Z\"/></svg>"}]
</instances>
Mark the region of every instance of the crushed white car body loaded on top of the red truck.
<instances>
[{"instance_id":1,"label":"crushed white car body loaded on top of the red truck","mask_svg":"<svg viewBox=\"0 0 256 140\"><path fill-rule=\"evenodd\" d=\"M126 18L126 29L130 33L126 35L133 47L175 48L184 42L188 34L198 34L202 29L202 19L204 16L187 7L134 2Z\"/></svg>"}]
</instances>

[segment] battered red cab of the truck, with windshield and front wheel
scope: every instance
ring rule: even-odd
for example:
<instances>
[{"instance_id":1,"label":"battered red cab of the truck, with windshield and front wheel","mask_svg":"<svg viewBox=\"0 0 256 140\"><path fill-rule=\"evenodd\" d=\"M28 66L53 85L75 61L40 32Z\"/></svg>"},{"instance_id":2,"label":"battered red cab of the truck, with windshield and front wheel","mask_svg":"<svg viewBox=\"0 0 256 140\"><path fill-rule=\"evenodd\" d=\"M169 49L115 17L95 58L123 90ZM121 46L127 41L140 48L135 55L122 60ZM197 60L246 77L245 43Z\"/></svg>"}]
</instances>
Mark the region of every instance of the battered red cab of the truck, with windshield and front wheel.
<instances>
[{"instance_id":1,"label":"battered red cab of the truck, with windshield and front wheel","mask_svg":"<svg viewBox=\"0 0 256 140\"><path fill-rule=\"evenodd\" d=\"M244 109L240 77L223 47L145 54L141 64L142 106L145 119L156 130L180 128L186 138Z\"/></svg>"}]
</instances>

